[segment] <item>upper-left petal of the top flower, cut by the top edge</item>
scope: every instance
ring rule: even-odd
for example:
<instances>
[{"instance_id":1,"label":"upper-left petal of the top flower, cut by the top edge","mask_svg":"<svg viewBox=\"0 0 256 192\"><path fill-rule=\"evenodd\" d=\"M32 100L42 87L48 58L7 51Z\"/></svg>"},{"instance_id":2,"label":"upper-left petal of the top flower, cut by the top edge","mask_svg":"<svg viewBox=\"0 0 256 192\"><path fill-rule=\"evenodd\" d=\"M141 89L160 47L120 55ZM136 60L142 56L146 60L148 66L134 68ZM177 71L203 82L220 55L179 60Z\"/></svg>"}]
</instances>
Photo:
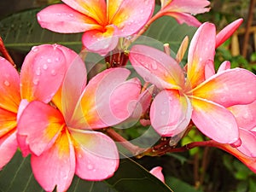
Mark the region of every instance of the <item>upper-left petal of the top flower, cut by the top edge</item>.
<instances>
[{"instance_id":1,"label":"upper-left petal of the top flower, cut by the top edge","mask_svg":"<svg viewBox=\"0 0 256 192\"><path fill-rule=\"evenodd\" d=\"M61 0L71 8L87 15L97 23L104 26L107 22L107 8L105 0Z\"/></svg>"}]
</instances>

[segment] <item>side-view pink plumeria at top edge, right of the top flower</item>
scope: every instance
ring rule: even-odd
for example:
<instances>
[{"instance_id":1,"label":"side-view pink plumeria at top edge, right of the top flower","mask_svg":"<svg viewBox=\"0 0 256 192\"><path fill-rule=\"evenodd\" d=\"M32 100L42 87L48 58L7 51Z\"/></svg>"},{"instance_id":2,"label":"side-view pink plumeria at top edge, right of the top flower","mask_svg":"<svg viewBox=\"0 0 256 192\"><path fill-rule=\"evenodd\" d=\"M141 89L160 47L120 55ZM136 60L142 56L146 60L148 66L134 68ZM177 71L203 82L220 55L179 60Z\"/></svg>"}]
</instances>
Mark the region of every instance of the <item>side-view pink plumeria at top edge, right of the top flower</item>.
<instances>
[{"instance_id":1,"label":"side-view pink plumeria at top edge, right of the top flower","mask_svg":"<svg viewBox=\"0 0 256 192\"><path fill-rule=\"evenodd\" d=\"M172 16L179 24L200 26L201 22L193 15L208 12L210 2L207 0L160 0L161 9L156 17L162 15Z\"/></svg>"}]
</instances>

